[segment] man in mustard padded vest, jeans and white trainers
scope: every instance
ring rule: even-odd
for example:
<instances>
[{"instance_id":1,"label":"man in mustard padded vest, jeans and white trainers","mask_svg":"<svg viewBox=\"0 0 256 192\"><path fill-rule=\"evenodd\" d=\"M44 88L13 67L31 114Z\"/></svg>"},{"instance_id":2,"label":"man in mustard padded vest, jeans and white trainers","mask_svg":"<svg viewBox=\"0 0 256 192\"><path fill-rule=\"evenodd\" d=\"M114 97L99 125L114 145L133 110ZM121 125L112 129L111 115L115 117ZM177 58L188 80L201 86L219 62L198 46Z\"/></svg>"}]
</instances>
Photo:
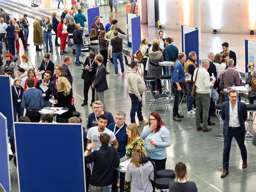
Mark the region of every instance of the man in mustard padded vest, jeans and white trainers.
<instances>
[{"instance_id":1,"label":"man in mustard padded vest, jeans and white trainers","mask_svg":"<svg viewBox=\"0 0 256 192\"><path fill-rule=\"evenodd\" d=\"M188 86L188 93L187 93L187 114L188 115L195 115L195 111L193 110L193 101L194 101L194 97L191 97L191 90L193 87L193 76L194 76L194 71L197 68L197 55L195 51L191 51L188 54L188 60L185 62L184 64L184 69L185 69L185 73L189 73L191 75L191 80L186 80L187 86Z\"/></svg>"}]
</instances>

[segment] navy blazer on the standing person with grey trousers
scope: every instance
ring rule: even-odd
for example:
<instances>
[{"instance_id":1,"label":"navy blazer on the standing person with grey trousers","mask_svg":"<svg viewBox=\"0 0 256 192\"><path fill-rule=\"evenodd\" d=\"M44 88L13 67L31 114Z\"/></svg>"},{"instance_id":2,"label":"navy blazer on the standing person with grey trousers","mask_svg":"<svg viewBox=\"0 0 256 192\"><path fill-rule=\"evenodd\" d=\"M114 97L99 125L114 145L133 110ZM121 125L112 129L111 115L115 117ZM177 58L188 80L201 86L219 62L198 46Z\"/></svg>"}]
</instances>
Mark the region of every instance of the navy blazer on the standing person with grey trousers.
<instances>
[{"instance_id":1,"label":"navy blazer on the standing person with grey trousers","mask_svg":"<svg viewBox=\"0 0 256 192\"><path fill-rule=\"evenodd\" d=\"M108 90L106 67L103 65L103 63L99 66L99 69L96 72L93 87L96 89L97 92L103 92Z\"/></svg>"}]
</instances>

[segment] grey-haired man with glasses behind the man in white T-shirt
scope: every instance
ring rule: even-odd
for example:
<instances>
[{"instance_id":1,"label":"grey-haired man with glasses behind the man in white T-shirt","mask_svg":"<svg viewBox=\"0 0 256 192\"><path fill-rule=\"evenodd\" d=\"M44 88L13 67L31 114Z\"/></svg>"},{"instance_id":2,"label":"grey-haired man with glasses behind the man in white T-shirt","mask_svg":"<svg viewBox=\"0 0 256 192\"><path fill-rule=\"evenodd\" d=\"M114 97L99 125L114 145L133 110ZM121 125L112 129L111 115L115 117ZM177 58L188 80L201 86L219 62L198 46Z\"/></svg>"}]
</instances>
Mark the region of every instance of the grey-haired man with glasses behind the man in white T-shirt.
<instances>
[{"instance_id":1,"label":"grey-haired man with glasses behind the man in white T-shirt","mask_svg":"<svg viewBox=\"0 0 256 192\"><path fill-rule=\"evenodd\" d=\"M115 122L111 112L103 111L103 103L101 101L94 101L92 106L93 106L93 113L91 113L88 117L87 128L98 126L99 116L102 114L108 117L108 123L106 127L108 127L110 123Z\"/></svg>"}]
</instances>

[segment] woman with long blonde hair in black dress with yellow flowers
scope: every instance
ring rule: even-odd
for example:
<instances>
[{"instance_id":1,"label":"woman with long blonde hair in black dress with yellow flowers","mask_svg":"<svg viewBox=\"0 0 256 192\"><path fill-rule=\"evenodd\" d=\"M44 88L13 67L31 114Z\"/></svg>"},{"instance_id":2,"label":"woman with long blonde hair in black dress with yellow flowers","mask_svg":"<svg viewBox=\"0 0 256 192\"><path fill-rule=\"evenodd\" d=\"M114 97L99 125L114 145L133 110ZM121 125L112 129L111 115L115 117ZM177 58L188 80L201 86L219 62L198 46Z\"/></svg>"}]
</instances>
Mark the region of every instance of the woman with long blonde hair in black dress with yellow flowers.
<instances>
[{"instance_id":1,"label":"woman with long blonde hair in black dress with yellow flowers","mask_svg":"<svg viewBox=\"0 0 256 192\"><path fill-rule=\"evenodd\" d=\"M126 145L125 157L126 159L131 159L135 146L140 145L142 150L145 151L144 141L141 138L141 135L136 123L131 123L126 127L126 134L128 135L128 142ZM131 183L127 182L126 180L124 181L124 191L125 192L131 191Z\"/></svg>"}]
</instances>

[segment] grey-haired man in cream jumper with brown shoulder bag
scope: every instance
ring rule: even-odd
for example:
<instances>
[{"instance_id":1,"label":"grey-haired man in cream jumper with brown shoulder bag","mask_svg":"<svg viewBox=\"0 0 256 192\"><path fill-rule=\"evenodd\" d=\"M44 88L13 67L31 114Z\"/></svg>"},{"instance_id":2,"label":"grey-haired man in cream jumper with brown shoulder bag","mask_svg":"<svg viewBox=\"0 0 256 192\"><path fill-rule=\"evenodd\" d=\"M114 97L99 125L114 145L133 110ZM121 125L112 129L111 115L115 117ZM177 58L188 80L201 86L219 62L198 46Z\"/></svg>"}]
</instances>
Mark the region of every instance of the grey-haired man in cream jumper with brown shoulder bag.
<instances>
[{"instance_id":1,"label":"grey-haired man in cream jumper with brown shoulder bag","mask_svg":"<svg viewBox=\"0 0 256 192\"><path fill-rule=\"evenodd\" d=\"M196 130L203 132L211 131L211 128L207 128L208 113L210 107L210 87L214 85L214 81L210 81L210 75L207 72L210 63L208 59L203 59L201 61L201 67L197 68L194 72L193 81L196 82ZM195 81L195 79L197 80ZM200 113L202 112L203 127L200 125Z\"/></svg>"}]
</instances>

